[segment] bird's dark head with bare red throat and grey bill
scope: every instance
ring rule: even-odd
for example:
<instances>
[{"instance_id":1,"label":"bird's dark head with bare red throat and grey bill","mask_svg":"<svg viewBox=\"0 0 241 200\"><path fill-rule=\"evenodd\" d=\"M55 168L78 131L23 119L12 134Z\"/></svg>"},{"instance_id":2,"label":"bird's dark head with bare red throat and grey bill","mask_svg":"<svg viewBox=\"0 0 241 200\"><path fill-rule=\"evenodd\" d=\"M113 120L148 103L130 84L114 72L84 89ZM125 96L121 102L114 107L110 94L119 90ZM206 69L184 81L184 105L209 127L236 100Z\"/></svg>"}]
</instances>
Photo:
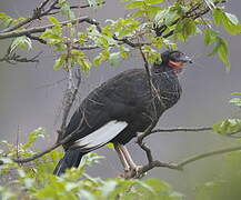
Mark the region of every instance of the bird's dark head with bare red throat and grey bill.
<instances>
[{"instance_id":1,"label":"bird's dark head with bare red throat and grey bill","mask_svg":"<svg viewBox=\"0 0 241 200\"><path fill-rule=\"evenodd\" d=\"M190 57L185 56L181 51L168 50L161 54L162 64L172 68L177 73L180 73L184 63L192 63Z\"/></svg>"}]
</instances>

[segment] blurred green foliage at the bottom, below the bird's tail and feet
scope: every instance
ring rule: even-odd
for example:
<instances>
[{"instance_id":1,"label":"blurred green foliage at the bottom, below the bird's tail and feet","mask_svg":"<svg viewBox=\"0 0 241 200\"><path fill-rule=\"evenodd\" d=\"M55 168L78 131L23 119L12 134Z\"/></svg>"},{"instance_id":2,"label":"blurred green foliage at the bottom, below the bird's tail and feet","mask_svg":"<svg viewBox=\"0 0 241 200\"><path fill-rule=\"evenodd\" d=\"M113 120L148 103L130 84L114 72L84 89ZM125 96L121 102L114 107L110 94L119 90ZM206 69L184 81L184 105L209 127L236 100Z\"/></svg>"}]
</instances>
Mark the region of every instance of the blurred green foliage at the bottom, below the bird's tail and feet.
<instances>
[{"instance_id":1,"label":"blurred green foliage at the bottom, below the bird's tail and feet","mask_svg":"<svg viewBox=\"0 0 241 200\"><path fill-rule=\"evenodd\" d=\"M124 180L122 178L92 178L86 173L86 167L98 163L102 158L97 153L89 153L78 169L68 170L63 176L52 174L53 168L62 153L51 151L41 159L28 163L17 164L9 157L21 154L28 157L34 141L43 136L40 128L29 134L27 143L17 147L3 142L4 152L0 151L0 198L9 199L160 199L180 200L182 194L173 191L170 186L158 179ZM16 153L18 150L19 153ZM16 177L13 180L8 180ZM7 181L8 180L8 181Z\"/></svg>"}]
</instances>

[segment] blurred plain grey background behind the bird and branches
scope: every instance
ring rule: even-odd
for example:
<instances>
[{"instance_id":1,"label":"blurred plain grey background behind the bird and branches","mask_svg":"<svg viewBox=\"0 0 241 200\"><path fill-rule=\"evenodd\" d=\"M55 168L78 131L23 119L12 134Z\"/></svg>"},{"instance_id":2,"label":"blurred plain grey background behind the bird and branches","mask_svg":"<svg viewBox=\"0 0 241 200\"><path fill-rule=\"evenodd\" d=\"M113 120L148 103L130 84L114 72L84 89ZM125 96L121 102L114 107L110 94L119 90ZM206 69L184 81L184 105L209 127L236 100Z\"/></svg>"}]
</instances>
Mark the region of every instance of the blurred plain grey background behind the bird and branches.
<instances>
[{"instance_id":1,"label":"blurred plain grey background behind the bird and branches","mask_svg":"<svg viewBox=\"0 0 241 200\"><path fill-rule=\"evenodd\" d=\"M40 0L1 0L0 12L12 17L28 17L40 2ZM82 4L86 3L87 1L82 1ZM240 8L241 1L230 0L225 11L241 19ZM98 10L82 9L80 14L87 14L104 24L107 19L123 18L127 13L119 0L111 0ZM37 21L36 24L44 24L44 21ZM224 32L223 36L230 46L229 58L232 69L229 73L217 57L207 56L211 49L203 46L201 36L192 37L188 43L179 46L181 51L193 58L194 63L187 66L180 76L183 88L180 101L162 116L157 128L209 127L225 118L241 117L240 110L229 103L232 98L231 92L241 92L241 36L230 37ZM0 57L6 53L9 42L10 40L0 41ZM19 132L20 141L24 142L32 130L46 127L47 137L38 142L36 150L43 150L56 141L66 89L64 73L52 69L58 57L56 52L34 43L33 50L24 54L30 58L41 51L39 63L12 66L0 62L0 140L14 143ZM130 59L122 61L118 67L111 67L107 62L98 68L93 67L89 74L84 74L74 108L104 80L131 68L143 68L138 52L132 52ZM197 153L235 144L232 139L208 131L155 133L145 141L151 147L154 158L163 162L180 161ZM128 148L137 163L147 162L144 152L134 140ZM101 148L97 152L106 159L88 169L91 176L108 178L121 173L121 164L114 151ZM175 190L192 194L198 182L218 176L215 171L222 163L222 156L218 156L193 162L181 172L153 169L147 177L160 178L168 181Z\"/></svg>"}]
</instances>

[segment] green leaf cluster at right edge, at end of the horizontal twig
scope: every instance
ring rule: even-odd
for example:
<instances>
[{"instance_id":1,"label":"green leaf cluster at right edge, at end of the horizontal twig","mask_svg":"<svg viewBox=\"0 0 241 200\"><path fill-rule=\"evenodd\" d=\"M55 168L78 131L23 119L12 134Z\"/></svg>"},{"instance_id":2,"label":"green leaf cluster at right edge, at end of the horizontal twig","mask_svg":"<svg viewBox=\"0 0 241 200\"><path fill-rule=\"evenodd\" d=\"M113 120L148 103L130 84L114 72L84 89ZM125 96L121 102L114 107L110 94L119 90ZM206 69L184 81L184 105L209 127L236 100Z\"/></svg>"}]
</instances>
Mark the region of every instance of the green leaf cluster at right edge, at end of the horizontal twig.
<instances>
[{"instance_id":1,"label":"green leaf cluster at right edge, at end of the horizontal twig","mask_svg":"<svg viewBox=\"0 0 241 200\"><path fill-rule=\"evenodd\" d=\"M219 134L229 136L241 131L241 119L227 119L212 126L212 130Z\"/></svg>"}]
</instances>

